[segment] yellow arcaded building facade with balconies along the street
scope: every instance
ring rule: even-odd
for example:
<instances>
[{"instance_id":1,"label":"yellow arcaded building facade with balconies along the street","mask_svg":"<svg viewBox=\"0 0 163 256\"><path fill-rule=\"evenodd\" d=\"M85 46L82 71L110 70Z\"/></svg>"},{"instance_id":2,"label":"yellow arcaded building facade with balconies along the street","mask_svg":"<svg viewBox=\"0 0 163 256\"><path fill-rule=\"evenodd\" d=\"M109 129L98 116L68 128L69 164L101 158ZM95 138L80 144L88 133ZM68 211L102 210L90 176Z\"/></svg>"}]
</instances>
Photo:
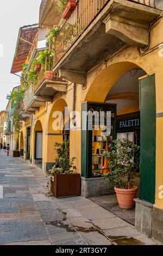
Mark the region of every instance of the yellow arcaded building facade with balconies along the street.
<instances>
[{"instance_id":1,"label":"yellow arcaded building facade with balconies along the street","mask_svg":"<svg viewBox=\"0 0 163 256\"><path fill-rule=\"evenodd\" d=\"M79 17L74 10L68 21L58 13L57 3L50 6L50 2L41 3L36 37L45 29L60 27L58 38L49 45L54 48L53 68L45 70L53 70L59 76L51 81L40 70L36 86L28 84L19 140L24 159L42 164L43 172L53 166L54 143L64 139L67 121L64 118L63 125L60 120L58 130L54 130L56 112L64 113L68 107L69 113L76 111L82 120L84 102L116 105L117 124L120 122L123 127L115 124L115 138L128 136L141 147L135 227L162 242L163 5L160 1L151 1L151 5L146 1L145 5L140 1L115 0L103 4L93 1L92 7L86 1L84 24L80 1ZM69 37L62 39L66 29ZM30 65L33 56L46 47L36 45L33 54L29 51L26 62ZM26 77L24 74L25 80ZM139 120L139 124L134 120ZM76 157L77 171L82 176L81 194L84 197L107 194L103 178L91 177L94 167L90 170L85 166L85 140L81 124L75 129L70 127L70 157ZM100 143L94 149L99 147Z\"/></svg>"}]
</instances>

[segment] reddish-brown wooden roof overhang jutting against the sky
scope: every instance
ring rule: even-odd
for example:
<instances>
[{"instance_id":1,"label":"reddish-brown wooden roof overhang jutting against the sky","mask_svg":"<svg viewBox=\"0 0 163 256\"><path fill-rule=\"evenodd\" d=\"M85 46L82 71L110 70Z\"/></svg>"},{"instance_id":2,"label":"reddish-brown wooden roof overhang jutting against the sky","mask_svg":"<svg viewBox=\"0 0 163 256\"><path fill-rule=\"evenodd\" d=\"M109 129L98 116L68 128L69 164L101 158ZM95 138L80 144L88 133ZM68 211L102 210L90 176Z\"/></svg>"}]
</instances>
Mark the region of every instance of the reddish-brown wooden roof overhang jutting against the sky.
<instances>
[{"instance_id":1,"label":"reddish-brown wooden roof overhang jutting against the sky","mask_svg":"<svg viewBox=\"0 0 163 256\"><path fill-rule=\"evenodd\" d=\"M24 26L19 29L11 74L22 71L22 64L26 62L39 26L37 24Z\"/></svg>"}]
</instances>

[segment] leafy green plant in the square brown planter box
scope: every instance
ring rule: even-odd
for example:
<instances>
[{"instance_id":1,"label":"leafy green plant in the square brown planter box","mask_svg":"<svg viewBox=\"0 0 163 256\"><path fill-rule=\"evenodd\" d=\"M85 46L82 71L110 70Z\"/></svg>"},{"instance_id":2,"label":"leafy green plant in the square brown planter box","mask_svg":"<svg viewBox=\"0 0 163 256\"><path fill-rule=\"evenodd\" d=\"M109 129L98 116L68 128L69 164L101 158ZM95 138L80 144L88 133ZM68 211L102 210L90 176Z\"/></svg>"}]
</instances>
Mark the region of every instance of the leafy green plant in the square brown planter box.
<instances>
[{"instance_id":1,"label":"leafy green plant in the square brown planter box","mask_svg":"<svg viewBox=\"0 0 163 256\"><path fill-rule=\"evenodd\" d=\"M70 141L55 143L58 157L46 173L47 185L55 197L80 196L80 174L76 172L74 157L70 159Z\"/></svg>"}]
</instances>

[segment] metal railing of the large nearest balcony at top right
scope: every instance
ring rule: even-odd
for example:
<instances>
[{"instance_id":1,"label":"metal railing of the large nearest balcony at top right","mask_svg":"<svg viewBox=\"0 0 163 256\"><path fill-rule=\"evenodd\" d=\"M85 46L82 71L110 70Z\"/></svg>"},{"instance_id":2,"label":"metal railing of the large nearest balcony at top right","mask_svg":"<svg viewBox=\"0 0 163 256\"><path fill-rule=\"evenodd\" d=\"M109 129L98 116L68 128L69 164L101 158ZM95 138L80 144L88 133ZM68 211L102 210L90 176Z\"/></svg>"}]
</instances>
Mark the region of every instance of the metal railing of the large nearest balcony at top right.
<instances>
[{"instance_id":1,"label":"metal railing of the large nearest balcony at top right","mask_svg":"<svg viewBox=\"0 0 163 256\"><path fill-rule=\"evenodd\" d=\"M89 26L91 21L98 15L99 11L110 0L78 0L77 7L70 18L62 23L60 32L53 38L55 66L64 54L70 49L74 42ZM155 8L155 0L127 0L137 2Z\"/></svg>"}]
</instances>

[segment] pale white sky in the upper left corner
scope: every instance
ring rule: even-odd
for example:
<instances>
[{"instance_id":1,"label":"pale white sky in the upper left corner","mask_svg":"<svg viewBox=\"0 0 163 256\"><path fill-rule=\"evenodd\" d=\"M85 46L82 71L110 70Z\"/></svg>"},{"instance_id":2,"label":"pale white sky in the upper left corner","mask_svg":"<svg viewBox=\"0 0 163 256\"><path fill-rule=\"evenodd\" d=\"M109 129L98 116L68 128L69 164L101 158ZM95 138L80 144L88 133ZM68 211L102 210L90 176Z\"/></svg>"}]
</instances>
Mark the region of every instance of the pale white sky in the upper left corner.
<instances>
[{"instance_id":1,"label":"pale white sky in the upper left corner","mask_svg":"<svg viewBox=\"0 0 163 256\"><path fill-rule=\"evenodd\" d=\"M0 111L7 106L7 94L20 78L10 74L18 30L39 22L41 0L0 0Z\"/></svg>"}]
</instances>

